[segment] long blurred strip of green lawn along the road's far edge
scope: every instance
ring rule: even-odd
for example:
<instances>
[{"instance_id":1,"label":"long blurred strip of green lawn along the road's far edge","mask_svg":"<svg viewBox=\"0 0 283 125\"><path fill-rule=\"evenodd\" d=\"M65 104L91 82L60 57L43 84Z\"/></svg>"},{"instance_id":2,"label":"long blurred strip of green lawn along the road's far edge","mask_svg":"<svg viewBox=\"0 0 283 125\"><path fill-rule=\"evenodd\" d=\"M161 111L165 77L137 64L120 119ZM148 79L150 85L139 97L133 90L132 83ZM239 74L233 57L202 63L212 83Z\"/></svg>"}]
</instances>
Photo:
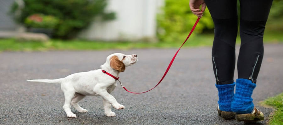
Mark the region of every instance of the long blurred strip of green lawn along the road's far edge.
<instances>
[{"instance_id":1,"label":"long blurred strip of green lawn along the road's far edge","mask_svg":"<svg viewBox=\"0 0 283 125\"><path fill-rule=\"evenodd\" d=\"M267 32L264 42L283 42L282 32ZM213 34L194 35L188 39L184 47L212 46ZM185 38L184 38L185 39ZM48 51L48 50L107 50L107 49L141 49L141 48L178 48L183 41L178 42L103 42L88 40L58 40L47 42L19 41L17 39L0 39L1 51ZM240 43L239 36L237 44Z\"/></svg>"}]
</instances>

